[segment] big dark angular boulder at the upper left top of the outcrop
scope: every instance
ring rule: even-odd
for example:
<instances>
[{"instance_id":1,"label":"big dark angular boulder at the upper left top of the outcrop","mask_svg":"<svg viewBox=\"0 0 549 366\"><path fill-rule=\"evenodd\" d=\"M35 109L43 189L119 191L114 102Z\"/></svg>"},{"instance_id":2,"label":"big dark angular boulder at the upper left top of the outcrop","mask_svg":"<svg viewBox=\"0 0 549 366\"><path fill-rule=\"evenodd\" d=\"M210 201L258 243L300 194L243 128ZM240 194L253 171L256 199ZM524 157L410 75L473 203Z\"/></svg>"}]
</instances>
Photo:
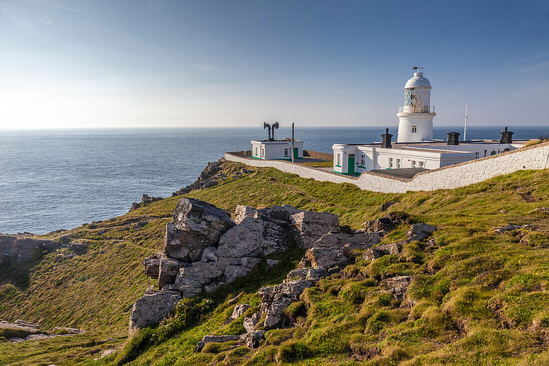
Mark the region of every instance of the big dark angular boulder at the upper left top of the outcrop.
<instances>
[{"instance_id":1,"label":"big dark angular boulder at the upper left top of the outcrop","mask_svg":"<svg viewBox=\"0 0 549 366\"><path fill-rule=\"evenodd\" d=\"M166 225L164 253L183 262L200 260L205 248L217 246L221 235L235 226L225 210L194 198L181 198Z\"/></svg>"}]
</instances>

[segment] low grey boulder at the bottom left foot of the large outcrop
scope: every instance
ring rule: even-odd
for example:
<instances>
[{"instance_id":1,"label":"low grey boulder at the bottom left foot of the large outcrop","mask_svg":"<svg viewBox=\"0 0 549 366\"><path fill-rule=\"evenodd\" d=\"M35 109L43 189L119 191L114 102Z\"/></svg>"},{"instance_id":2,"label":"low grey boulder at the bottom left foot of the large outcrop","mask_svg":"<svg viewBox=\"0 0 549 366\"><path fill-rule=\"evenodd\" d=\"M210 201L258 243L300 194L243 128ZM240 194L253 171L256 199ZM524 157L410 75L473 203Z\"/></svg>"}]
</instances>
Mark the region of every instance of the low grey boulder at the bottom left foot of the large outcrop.
<instances>
[{"instance_id":1,"label":"low grey boulder at the bottom left foot of the large outcrop","mask_svg":"<svg viewBox=\"0 0 549 366\"><path fill-rule=\"evenodd\" d=\"M158 323L180 301L175 291L155 291L138 298L130 314L130 331Z\"/></svg>"}]
</instances>

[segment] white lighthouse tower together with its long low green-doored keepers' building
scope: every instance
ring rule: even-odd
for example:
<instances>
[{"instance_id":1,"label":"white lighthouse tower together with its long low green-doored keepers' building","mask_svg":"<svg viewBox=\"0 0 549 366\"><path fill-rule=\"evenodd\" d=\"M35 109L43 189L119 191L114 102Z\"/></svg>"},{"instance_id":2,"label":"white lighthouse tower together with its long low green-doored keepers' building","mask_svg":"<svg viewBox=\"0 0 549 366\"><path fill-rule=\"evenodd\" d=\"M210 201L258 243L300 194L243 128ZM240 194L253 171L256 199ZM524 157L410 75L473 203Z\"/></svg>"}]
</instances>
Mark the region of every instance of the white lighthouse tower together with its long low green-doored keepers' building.
<instances>
[{"instance_id":1,"label":"white lighthouse tower together with its long low green-doored keepers' building","mask_svg":"<svg viewBox=\"0 0 549 366\"><path fill-rule=\"evenodd\" d=\"M333 171L360 175L363 171L416 168L411 173L467 162L514 150L524 141L513 143L513 132L501 132L501 140L458 141L460 134L450 132L447 141L433 140L434 107L430 106L431 83L423 73L414 73L404 87L404 106L399 107L396 143L386 129L382 142L365 145L334 144ZM388 173L388 172L387 172ZM394 172L397 173L396 171Z\"/></svg>"}]
</instances>

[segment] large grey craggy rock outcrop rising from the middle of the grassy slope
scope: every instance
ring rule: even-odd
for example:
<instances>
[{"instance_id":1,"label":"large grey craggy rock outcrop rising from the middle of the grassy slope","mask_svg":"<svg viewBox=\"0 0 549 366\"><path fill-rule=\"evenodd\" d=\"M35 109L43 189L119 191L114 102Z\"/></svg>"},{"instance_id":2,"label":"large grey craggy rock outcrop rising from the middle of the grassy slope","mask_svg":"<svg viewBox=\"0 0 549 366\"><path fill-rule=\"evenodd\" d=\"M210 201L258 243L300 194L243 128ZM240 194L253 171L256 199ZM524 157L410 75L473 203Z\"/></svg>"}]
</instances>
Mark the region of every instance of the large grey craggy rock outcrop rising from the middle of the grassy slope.
<instances>
[{"instance_id":1,"label":"large grey craggy rock outcrop rising from the middle of the grassy slope","mask_svg":"<svg viewBox=\"0 0 549 366\"><path fill-rule=\"evenodd\" d=\"M249 274L262 258L283 252L290 241L306 248L319 240L319 246L329 246L312 252L311 259L318 268L332 266L334 261L346 262L341 253L339 257L328 254L341 252L343 245L370 246L379 242L376 233L350 230L324 237L328 231L339 229L337 215L330 213L301 211L287 205L263 209L237 206L233 221L229 213L210 203L181 198L171 223L166 225L164 251L143 260L144 273L157 278L162 291L148 291L136 302L132 312L136 320L130 321L130 328L158 322L175 306L175 293L191 297ZM334 245L339 249L332 249ZM277 263L268 259L266 265ZM153 316L151 309L155 306L161 309Z\"/></svg>"}]
</instances>

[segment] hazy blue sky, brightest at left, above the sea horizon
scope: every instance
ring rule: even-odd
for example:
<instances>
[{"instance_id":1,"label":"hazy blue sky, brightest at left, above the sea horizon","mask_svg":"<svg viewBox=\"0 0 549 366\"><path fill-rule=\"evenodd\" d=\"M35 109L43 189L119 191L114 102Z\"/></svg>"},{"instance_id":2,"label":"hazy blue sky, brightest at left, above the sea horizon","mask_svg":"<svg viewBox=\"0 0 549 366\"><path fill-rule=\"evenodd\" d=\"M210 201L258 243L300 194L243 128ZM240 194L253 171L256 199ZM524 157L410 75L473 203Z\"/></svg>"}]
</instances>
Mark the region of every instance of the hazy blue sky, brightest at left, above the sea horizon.
<instances>
[{"instance_id":1,"label":"hazy blue sky, brightest at left, above the sea horizon","mask_svg":"<svg viewBox=\"0 0 549 366\"><path fill-rule=\"evenodd\" d=\"M548 124L545 1L0 0L0 129Z\"/></svg>"}]
</instances>

